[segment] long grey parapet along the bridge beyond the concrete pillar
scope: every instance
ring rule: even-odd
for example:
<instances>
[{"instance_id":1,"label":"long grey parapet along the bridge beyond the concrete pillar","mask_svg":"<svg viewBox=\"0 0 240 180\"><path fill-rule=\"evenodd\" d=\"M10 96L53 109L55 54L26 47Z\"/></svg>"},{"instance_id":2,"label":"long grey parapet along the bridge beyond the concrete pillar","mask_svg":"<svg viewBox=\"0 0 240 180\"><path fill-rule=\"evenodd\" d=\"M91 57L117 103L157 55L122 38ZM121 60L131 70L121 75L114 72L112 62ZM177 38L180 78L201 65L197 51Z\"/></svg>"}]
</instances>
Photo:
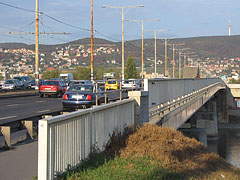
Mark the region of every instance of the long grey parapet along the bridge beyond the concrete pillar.
<instances>
[{"instance_id":1,"label":"long grey parapet along the bridge beyond the concrete pillar","mask_svg":"<svg viewBox=\"0 0 240 180\"><path fill-rule=\"evenodd\" d=\"M149 91L149 107L152 107L218 82L225 84L219 78L145 79L144 91Z\"/></svg>"}]
</instances>

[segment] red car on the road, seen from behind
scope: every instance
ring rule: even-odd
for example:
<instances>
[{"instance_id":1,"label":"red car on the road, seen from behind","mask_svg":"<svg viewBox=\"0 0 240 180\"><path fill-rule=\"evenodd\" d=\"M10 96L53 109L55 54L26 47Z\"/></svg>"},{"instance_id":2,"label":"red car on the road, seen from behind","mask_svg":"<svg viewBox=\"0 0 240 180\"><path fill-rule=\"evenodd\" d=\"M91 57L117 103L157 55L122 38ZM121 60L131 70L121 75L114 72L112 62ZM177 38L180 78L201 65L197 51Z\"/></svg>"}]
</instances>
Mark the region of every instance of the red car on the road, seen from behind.
<instances>
[{"instance_id":1,"label":"red car on the road, seen from behind","mask_svg":"<svg viewBox=\"0 0 240 180\"><path fill-rule=\"evenodd\" d=\"M62 96L65 93L66 87L64 86L62 81L59 80L46 80L39 87L39 96L43 97L44 95Z\"/></svg>"}]
</instances>

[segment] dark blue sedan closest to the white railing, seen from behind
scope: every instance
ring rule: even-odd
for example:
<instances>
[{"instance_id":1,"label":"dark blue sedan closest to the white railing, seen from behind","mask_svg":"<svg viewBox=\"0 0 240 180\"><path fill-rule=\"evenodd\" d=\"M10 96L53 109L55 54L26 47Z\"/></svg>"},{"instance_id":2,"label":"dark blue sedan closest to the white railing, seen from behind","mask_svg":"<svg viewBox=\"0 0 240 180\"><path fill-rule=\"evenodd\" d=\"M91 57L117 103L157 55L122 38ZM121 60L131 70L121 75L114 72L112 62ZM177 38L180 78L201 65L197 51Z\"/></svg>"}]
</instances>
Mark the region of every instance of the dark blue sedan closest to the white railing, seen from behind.
<instances>
[{"instance_id":1,"label":"dark blue sedan closest to the white railing, seen from behind","mask_svg":"<svg viewBox=\"0 0 240 180\"><path fill-rule=\"evenodd\" d=\"M105 102L101 88L97 88L98 104ZM87 108L96 104L95 87L92 84L74 84L65 92L62 99L63 109Z\"/></svg>"}]
</instances>

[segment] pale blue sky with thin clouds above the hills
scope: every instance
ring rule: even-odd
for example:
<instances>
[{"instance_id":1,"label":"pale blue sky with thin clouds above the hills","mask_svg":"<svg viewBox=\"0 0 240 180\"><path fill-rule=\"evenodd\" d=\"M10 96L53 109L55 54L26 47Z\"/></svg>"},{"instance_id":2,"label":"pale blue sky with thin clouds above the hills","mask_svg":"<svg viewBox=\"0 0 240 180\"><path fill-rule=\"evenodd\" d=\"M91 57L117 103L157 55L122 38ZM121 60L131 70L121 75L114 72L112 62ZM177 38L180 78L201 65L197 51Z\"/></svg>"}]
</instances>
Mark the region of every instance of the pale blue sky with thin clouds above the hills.
<instances>
[{"instance_id":1,"label":"pale blue sky with thin clouds above the hills","mask_svg":"<svg viewBox=\"0 0 240 180\"><path fill-rule=\"evenodd\" d=\"M160 21L144 23L145 30L169 30L159 33L158 38L225 36L228 35L229 19L232 24L232 35L240 34L239 0L93 0L94 30L96 30L94 37L110 41L120 42L122 39L121 9L102 8L103 5L144 5L144 7L125 8L124 18L160 19ZM34 44L34 35L23 34L23 32L35 31L34 11L35 0L0 0L0 43ZM91 35L91 0L39 0L39 11L43 12L39 22L40 32L71 33L41 35L41 44L62 44ZM124 32L126 41L141 39L141 26L136 22L125 21ZM153 37L153 32L144 32L144 38Z\"/></svg>"}]
</instances>

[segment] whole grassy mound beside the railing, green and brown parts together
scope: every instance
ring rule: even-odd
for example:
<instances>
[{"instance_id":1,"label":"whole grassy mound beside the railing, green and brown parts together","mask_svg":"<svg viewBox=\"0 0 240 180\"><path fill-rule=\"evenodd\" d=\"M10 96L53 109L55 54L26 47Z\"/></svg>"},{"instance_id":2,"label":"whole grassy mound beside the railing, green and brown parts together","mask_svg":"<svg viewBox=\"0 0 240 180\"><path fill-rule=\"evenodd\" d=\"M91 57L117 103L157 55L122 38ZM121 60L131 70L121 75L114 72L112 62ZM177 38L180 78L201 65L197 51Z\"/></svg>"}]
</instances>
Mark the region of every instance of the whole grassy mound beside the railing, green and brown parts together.
<instances>
[{"instance_id":1,"label":"whole grassy mound beside the railing, green and brown parts together","mask_svg":"<svg viewBox=\"0 0 240 180\"><path fill-rule=\"evenodd\" d=\"M92 153L58 179L237 180L240 170L178 131L144 125L114 134L104 152Z\"/></svg>"}]
</instances>

